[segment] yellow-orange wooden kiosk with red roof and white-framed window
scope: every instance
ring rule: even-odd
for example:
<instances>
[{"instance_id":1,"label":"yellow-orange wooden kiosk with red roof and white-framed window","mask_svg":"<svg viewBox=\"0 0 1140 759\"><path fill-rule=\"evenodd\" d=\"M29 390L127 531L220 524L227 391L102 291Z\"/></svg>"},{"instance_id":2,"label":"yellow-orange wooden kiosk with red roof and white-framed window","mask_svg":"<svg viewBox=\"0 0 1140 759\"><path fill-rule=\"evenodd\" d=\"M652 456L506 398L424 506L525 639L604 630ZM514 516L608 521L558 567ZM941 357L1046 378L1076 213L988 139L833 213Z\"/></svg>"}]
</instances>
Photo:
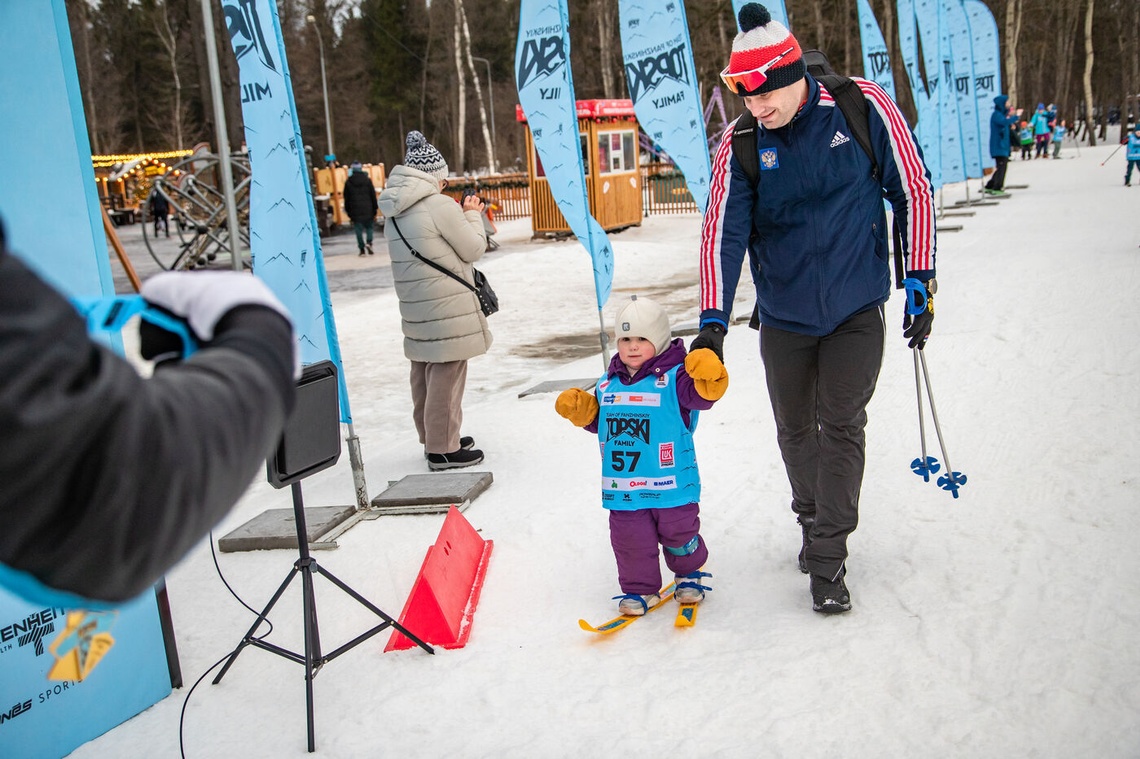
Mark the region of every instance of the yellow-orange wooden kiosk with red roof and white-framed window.
<instances>
[{"instance_id":1,"label":"yellow-orange wooden kiosk with red roof and white-framed window","mask_svg":"<svg viewBox=\"0 0 1140 759\"><path fill-rule=\"evenodd\" d=\"M641 225L641 154L633 101L578 100L577 108L591 213L606 231ZM522 106L515 106L515 119L527 123ZM529 126L527 173L535 237L570 232L570 225L551 194Z\"/></svg>"}]
</instances>

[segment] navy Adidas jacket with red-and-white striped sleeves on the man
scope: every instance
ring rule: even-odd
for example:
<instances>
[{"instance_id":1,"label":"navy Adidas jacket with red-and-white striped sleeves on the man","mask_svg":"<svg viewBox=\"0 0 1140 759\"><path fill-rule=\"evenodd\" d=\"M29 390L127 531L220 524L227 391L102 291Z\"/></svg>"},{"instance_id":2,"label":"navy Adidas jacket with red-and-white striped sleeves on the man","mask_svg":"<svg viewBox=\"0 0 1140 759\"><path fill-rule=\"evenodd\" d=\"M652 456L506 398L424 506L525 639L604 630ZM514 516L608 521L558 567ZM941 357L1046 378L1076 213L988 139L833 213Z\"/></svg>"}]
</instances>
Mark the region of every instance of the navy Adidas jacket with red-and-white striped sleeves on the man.
<instances>
[{"instance_id":1,"label":"navy Adidas jacket with red-and-white striped sleeves on the man","mask_svg":"<svg viewBox=\"0 0 1140 759\"><path fill-rule=\"evenodd\" d=\"M934 191L922 152L882 88L855 82L870 106L878 180L842 111L811 75L807 100L787 126L757 126L758 188L732 155L732 126L725 132L701 231L702 326L727 326L746 251L762 324L826 335L885 303L891 281L883 197L903 231L909 272L934 276Z\"/></svg>"}]
</instances>

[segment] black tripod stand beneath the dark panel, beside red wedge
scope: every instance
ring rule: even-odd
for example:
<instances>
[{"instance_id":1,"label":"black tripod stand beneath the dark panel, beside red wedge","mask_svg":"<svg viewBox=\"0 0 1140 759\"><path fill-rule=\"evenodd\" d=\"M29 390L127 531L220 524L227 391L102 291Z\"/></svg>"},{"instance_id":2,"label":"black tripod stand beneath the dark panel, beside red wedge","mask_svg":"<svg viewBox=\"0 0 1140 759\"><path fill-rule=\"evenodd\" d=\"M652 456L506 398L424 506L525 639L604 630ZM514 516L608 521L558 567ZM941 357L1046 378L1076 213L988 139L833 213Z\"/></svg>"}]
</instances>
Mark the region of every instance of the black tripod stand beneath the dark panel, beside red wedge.
<instances>
[{"instance_id":1,"label":"black tripod stand beneath the dark panel, beside red wedge","mask_svg":"<svg viewBox=\"0 0 1140 759\"><path fill-rule=\"evenodd\" d=\"M293 491L293 517L294 521L296 522L296 545L300 556L295 562L293 562L293 569L290 570L290 573L285 577L285 580L280 583L280 587L277 588L277 593L275 593L272 598L269 599L269 603L266 604L266 607L258 615L256 621L253 622L253 626L245 634L245 637L242 638L242 642L234 650L234 653L231 653L229 655L229 659L226 660L226 664L221 668L221 671L219 671L218 676L213 679L213 684L218 685L218 683L221 682L221 678L226 676L226 672L229 670L230 666L237 659L237 655L242 653L242 651L244 651L246 646L256 646L258 648L264 648L266 651L275 653L278 656L283 656L284 659L288 659L290 661L295 661L299 664L304 664L306 716L308 718L308 728L309 728L309 752L311 753L316 751L316 733L314 729L314 709L312 709L312 679L317 676L317 672L320 671L321 667L324 667L327 662L336 659L342 653L348 652L350 648L353 648L357 645L364 643L374 635L388 629L389 627L394 627L397 630L406 635L409 640L418 645L427 653L433 654L435 653L435 651L430 645L427 645L426 643L417 638L415 635L409 632L402 625L400 625L394 619L392 619L383 611L381 611L367 598L361 596L359 593L357 593L348 585L345 585L342 580L340 580L331 572L328 572L326 569L320 566L320 564L317 563L317 560L309 555L309 536L308 536L308 529L306 528L304 523L304 504L301 497L301 483L293 482L291 488ZM372 629L361 632L360 635L352 638L351 640L340 646L339 648L331 651L328 653L321 653L320 630L318 629L317 625L317 601L314 595L314 587L312 587L314 572L320 574L326 580L335 585L337 588L350 595L358 603L360 603L360 605L363 605L365 609L376 614L376 617L380 617L383 621L380 625L373 627ZM266 618L269 617L269 612L272 611L272 607L280 599L282 595L285 593L285 589L298 576L301 577L301 597L302 597L302 606L304 613L304 654L298 653L295 651L290 651L288 648L284 648L276 644L269 643L268 640L263 640L254 635L256 629L261 627L261 623L266 621Z\"/></svg>"}]
</instances>

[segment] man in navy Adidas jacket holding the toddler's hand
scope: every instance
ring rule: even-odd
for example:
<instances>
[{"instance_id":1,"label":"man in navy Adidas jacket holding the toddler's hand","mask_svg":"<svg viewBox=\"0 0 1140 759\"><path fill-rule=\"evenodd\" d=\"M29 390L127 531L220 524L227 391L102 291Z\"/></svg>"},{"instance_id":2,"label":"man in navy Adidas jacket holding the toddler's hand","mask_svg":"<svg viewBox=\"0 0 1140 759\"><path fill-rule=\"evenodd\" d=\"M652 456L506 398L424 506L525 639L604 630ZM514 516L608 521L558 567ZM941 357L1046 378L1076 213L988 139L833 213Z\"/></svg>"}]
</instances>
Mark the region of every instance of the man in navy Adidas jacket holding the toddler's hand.
<instances>
[{"instance_id":1,"label":"man in navy Adidas jacket holding the toddler's hand","mask_svg":"<svg viewBox=\"0 0 1140 759\"><path fill-rule=\"evenodd\" d=\"M720 76L757 120L759 182L732 153L732 128L717 150L700 243L700 334L691 351L722 354L747 252L760 324L760 357L776 440L803 528L800 570L812 607L850 609L847 537L858 522L866 405L883 353L890 295L890 232L898 223L909 275L935 283L930 172L914 134L878 84L866 98L878 163L824 87L807 73L799 43L768 10L748 3ZM934 301L903 335L922 348Z\"/></svg>"}]
</instances>

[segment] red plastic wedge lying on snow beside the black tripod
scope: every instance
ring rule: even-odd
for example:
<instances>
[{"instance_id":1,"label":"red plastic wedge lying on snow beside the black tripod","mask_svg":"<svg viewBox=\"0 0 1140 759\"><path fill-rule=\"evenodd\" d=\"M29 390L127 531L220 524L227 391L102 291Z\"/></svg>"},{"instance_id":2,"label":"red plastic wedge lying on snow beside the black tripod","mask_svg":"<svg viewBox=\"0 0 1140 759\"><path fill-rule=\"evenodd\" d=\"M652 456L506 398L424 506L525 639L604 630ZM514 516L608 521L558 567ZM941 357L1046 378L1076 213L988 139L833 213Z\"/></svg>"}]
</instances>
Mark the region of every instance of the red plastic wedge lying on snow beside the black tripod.
<instances>
[{"instance_id":1,"label":"red plastic wedge lying on snow beside the black tripod","mask_svg":"<svg viewBox=\"0 0 1140 759\"><path fill-rule=\"evenodd\" d=\"M465 646L494 546L494 541L483 540L459 509L451 506L435 544L427 548L412 594L400 612L400 625L424 643L445 648ZM384 651L414 645L406 635L394 630Z\"/></svg>"}]
</instances>

